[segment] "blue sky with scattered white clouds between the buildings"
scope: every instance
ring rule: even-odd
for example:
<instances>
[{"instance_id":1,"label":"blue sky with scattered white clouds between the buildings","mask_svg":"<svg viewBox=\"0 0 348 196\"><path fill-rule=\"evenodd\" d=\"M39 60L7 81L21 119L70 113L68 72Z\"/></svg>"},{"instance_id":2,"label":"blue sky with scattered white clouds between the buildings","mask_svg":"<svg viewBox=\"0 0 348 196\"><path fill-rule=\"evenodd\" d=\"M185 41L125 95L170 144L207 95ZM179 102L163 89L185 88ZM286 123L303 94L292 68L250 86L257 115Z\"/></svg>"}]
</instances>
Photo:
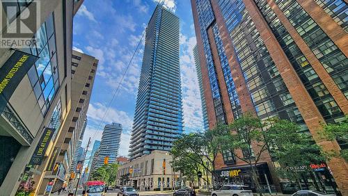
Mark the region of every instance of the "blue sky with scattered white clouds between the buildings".
<instances>
[{"instance_id":1,"label":"blue sky with scattered white clouds between the buildings","mask_svg":"<svg viewBox=\"0 0 348 196\"><path fill-rule=\"evenodd\" d=\"M99 59L88 109L83 146L89 137L100 140L106 123L123 125L119 154L127 156L143 56L143 45L129 67L118 94L106 112L123 72L136 49L159 0L85 0L74 17L73 47ZM185 131L202 129L202 111L192 49L196 44L191 3L165 0L164 6L180 17L180 65ZM93 145L93 142L91 145Z\"/></svg>"}]
</instances>

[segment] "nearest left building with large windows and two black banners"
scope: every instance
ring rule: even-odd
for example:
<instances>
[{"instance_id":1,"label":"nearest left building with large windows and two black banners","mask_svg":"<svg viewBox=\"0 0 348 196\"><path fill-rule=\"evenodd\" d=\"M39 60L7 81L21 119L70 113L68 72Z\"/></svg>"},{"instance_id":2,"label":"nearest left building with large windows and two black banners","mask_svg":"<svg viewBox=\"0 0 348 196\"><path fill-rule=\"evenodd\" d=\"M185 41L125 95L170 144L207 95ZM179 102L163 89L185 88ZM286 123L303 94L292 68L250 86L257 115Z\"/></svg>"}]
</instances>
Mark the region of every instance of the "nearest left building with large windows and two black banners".
<instances>
[{"instance_id":1,"label":"nearest left building with large windows and two black banners","mask_svg":"<svg viewBox=\"0 0 348 196\"><path fill-rule=\"evenodd\" d=\"M15 195L30 181L37 188L52 167L47 160L59 154L55 146L70 111L74 8L72 0L0 3L0 195ZM13 26L28 13L23 25L29 30L22 35ZM3 42L17 37L30 45ZM44 147L40 153L38 146Z\"/></svg>"}]
</instances>

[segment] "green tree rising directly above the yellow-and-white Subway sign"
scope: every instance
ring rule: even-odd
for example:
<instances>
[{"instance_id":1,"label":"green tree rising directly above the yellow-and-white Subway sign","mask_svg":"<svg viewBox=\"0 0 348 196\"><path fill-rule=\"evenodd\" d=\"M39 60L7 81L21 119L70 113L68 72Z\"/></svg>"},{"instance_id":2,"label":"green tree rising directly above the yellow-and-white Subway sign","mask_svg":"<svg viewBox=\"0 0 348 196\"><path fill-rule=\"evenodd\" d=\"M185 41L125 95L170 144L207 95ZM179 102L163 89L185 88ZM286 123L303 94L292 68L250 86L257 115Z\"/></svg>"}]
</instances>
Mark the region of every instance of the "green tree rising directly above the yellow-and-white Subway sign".
<instances>
[{"instance_id":1,"label":"green tree rising directly above the yellow-and-white Subway sign","mask_svg":"<svg viewBox=\"0 0 348 196\"><path fill-rule=\"evenodd\" d=\"M220 145L221 153L230 152L250 166L253 183L258 193L262 194L256 165L260 161L261 154L267 151L267 145L262 135L260 119L252 115L244 115L229 125L218 124L212 131L214 131L212 134L216 142Z\"/></svg>"}]
</instances>

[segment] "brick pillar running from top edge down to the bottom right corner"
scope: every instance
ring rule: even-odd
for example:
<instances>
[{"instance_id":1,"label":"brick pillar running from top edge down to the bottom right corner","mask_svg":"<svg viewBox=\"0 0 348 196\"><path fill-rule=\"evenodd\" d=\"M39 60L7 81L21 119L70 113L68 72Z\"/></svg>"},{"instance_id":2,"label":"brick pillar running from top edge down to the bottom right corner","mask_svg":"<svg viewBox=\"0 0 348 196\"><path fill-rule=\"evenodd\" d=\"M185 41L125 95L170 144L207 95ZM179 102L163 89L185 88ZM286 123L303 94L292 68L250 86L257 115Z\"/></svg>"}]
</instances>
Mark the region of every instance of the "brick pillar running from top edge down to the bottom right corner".
<instances>
[{"instance_id":1,"label":"brick pillar running from top edge down to the bottom right corner","mask_svg":"<svg viewBox=\"0 0 348 196\"><path fill-rule=\"evenodd\" d=\"M280 44L271 32L267 22L262 17L255 2L253 0L243 1L315 142L317 142L317 145L322 147L326 152L338 152L340 147L337 142L327 141L319 136L318 131L322 129L325 121L317 110L313 100L310 98L310 95L308 95L306 88L304 88L301 83L299 76L297 76L294 68L285 56L283 49L280 47ZM345 163L342 158L331 158L328 165L331 168L333 177L335 178L340 190L342 190L343 195L348 194L347 163Z\"/></svg>"}]
</instances>

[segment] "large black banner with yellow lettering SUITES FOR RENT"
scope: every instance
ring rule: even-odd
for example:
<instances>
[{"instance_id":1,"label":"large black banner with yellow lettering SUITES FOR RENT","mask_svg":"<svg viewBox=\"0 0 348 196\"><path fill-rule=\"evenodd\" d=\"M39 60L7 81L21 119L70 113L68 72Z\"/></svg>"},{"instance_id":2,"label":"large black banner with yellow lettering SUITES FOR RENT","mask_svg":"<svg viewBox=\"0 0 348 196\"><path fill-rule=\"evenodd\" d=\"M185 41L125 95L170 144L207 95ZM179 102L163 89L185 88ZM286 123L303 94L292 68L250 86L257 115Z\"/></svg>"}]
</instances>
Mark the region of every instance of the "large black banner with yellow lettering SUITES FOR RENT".
<instances>
[{"instance_id":1,"label":"large black banner with yellow lettering SUITES FOR RENT","mask_svg":"<svg viewBox=\"0 0 348 196\"><path fill-rule=\"evenodd\" d=\"M36 60L38 60L38 56L15 50L0 67L0 114L13 92L15 92L19 82L22 81Z\"/></svg>"}]
</instances>

